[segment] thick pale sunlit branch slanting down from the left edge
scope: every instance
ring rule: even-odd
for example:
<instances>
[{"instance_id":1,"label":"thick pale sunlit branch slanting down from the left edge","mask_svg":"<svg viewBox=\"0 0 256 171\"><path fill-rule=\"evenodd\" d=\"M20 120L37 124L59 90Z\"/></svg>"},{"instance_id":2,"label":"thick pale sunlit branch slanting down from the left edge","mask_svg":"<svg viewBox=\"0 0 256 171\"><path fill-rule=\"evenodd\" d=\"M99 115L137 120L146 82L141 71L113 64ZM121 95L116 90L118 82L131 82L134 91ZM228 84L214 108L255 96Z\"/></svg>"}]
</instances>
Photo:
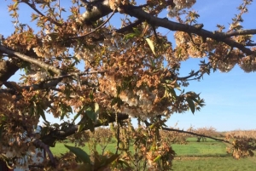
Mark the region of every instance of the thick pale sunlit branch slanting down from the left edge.
<instances>
[{"instance_id":1,"label":"thick pale sunlit branch slanting down from the left edge","mask_svg":"<svg viewBox=\"0 0 256 171\"><path fill-rule=\"evenodd\" d=\"M55 72L55 74L57 74L57 75L61 75L61 72L62 72L61 70L55 68L54 66L49 66L48 64L45 64L41 60L37 60L30 56L27 56L26 54L20 54L19 52L15 52L13 50L10 50L9 48L5 48L2 45L0 45L0 51L2 51L5 54L9 54L10 56L16 56L16 57L20 58L21 60L25 60L27 62L30 62L32 64L40 66L40 67L44 68L44 70L46 70L46 71L50 70L50 71Z\"/></svg>"}]
</instances>

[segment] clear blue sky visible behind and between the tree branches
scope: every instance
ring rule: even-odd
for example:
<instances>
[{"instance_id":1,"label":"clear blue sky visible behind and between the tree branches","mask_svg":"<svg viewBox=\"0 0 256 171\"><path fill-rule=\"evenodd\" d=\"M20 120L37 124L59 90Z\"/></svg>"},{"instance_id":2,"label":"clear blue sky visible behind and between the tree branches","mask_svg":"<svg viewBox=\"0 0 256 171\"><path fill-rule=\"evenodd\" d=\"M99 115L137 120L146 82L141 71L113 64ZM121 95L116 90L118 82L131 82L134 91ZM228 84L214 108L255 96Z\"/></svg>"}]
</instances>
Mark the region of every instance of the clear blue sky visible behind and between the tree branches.
<instances>
[{"instance_id":1,"label":"clear blue sky visible behind and between the tree branches","mask_svg":"<svg viewBox=\"0 0 256 171\"><path fill-rule=\"evenodd\" d=\"M11 1L1 1L0 3L0 34L5 37L14 31L6 4ZM143 3L143 1L141 1ZM63 1L64 3L64 1ZM216 25L224 25L227 28L231 19L238 14L236 9L241 0L197 0L193 7L195 11L201 15L198 23L204 24L204 29L210 31L216 30ZM24 9L25 5L21 5L20 9ZM254 10L253 10L254 9ZM249 13L243 16L245 20L243 26L245 29L255 29L256 22L256 3L249 8ZM20 19L26 23L30 21L32 11L22 10ZM116 20L117 18L115 18ZM165 34L167 31L164 31ZM168 36L172 37L173 32L169 32ZM255 40L255 37L254 37ZM191 69L198 68L198 59L191 59L183 62L181 75L186 76ZM12 80L19 79L17 73ZM223 73L216 71L210 76L205 76L201 82L190 82L187 91L195 91L201 93L201 97L206 100L206 106L201 111L196 111L195 115L188 111L184 114L174 114L167 122L167 125L174 126L175 123L179 128L195 128L212 126L219 131L233 129L255 129L256 128L256 74L246 73L239 66L228 72ZM49 118L49 121L58 122Z\"/></svg>"}]
</instances>

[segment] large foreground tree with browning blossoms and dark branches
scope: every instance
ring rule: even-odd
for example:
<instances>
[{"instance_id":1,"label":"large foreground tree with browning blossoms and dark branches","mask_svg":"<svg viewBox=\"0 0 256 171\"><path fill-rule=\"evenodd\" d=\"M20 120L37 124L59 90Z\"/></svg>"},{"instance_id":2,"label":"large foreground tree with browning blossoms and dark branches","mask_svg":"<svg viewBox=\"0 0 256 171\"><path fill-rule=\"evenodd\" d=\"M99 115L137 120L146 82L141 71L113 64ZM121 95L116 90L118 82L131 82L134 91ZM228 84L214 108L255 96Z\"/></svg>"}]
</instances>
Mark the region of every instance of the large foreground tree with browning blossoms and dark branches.
<instances>
[{"instance_id":1,"label":"large foreground tree with browning blossoms and dark branches","mask_svg":"<svg viewBox=\"0 0 256 171\"><path fill-rule=\"evenodd\" d=\"M135 0L9 1L15 32L0 40L0 157L26 168L32 163L27 151L41 147L48 155L44 170L171 169L175 153L160 128L186 132L167 128L166 120L204 105L200 94L184 90L189 81L215 70L230 71L236 64L247 72L256 70L256 30L242 27L242 15L252 2L241 3L229 28L217 25L207 31L196 21L199 14L189 9L195 0L148 0L143 5ZM31 23L20 21L27 15L20 5L32 9ZM166 9L168 18L160 18ZM113 15L121 18L120 26L108 22ZM157 28L175 31L173 42ZM189 58L202 59L199 69L180 77L181 61ZM18 71L20 80L10 82ZM50 124L46 112L61 123ZM65 117L71 121L64 122ZM129 117L138 119L137 129ZM39 118L44 127L35 133ZM114 123L115 153L95 151L92 162L78 147L66 145L73 153L58 159L49 151L57 140L84 140L84 130L109 123ZM240 148L234 140L226 140L234 151L253 149L252 144ZM137 165L140 161L143 166Z\"/></svg>"}]
</instances>

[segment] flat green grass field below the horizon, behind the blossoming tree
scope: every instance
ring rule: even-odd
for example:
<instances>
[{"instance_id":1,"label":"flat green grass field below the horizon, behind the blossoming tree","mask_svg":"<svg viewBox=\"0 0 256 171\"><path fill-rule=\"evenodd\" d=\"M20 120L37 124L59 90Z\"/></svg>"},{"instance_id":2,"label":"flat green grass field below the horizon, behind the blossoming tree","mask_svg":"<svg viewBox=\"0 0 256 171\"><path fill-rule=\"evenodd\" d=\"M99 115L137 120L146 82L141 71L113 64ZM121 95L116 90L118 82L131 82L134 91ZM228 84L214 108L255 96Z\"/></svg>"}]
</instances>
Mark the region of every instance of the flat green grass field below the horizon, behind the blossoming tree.
<instances>
[{"instance_id":1,"label":"flat green grass field below the horizon, behind the blossoming tree","mask_svg":"<svg viewBox=\"0 0 256 171\"><path fill-rule=\"evenodd\" d=\"M226 153L226 145L223 142L207 140L207 142L196 142L195 138L189 138L187 145L173 144L172 148L177 155L173 161L174 171L255 171L256 157L234 159ZM67 143L67 145L73 145ZM115 144L109 144L107 151L115 151ZM89 152L88 146L83 147ZM63 143L57 143L55 148L51 148L54 155L65 153ZM97 151L102 151L97 146Z\"/></svg>"}]
</instances>

